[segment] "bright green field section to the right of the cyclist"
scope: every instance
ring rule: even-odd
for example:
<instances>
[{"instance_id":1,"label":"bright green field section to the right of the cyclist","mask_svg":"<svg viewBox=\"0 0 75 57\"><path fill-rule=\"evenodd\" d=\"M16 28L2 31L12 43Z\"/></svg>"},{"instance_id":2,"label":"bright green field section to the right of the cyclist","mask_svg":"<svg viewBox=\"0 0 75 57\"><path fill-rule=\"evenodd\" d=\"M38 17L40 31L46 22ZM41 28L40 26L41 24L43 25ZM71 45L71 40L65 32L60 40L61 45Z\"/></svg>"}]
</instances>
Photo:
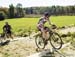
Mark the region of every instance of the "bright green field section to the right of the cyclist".
<instances>
[{"instance_id":1,"label":"bright green field section to the right of the cyclist","mask_svg":"<svg viewBox=\"0 0 75 57\"><path fill-rule=\"evenodd\" d=\"M75 24L75 16L54 16L51 19L53 23L60 27Z\"/></svg>"}]
</instances>

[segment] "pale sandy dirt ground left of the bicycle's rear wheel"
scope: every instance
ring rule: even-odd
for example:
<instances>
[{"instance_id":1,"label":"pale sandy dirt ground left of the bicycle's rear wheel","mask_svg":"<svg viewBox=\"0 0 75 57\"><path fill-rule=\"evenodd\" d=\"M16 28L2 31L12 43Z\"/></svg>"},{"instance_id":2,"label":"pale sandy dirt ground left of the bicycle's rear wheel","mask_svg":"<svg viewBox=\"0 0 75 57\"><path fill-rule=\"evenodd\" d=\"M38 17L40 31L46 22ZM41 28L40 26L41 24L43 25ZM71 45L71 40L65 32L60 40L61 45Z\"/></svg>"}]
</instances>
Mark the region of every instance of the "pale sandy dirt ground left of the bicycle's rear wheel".
<instances>
[{"instance_id":1,"label":"pale sandy dirt ground left of the bicycle's rear wheel","mask_svg":"<svg viewBox=\"0 0 75 57\"><path fill-rule=\"evenodd\" d=\"M8 45L0 46L0 57L26 57L35 53L35 48L34 41L29 38L12 41Z\"/></svg>"}]
</instances>

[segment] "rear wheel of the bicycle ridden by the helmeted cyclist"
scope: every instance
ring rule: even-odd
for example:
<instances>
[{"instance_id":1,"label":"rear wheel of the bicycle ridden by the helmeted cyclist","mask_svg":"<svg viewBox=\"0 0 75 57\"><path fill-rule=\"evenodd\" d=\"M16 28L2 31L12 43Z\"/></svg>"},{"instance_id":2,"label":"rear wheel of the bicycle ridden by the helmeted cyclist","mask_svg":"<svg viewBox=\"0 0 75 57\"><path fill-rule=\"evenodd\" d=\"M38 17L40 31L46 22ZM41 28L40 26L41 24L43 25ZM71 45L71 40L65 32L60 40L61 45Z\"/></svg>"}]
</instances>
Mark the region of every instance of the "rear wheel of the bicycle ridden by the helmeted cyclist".
<instances>
[{"instance_id":1,"label":"rear wheel of the bicycle ridden by the helmeted cyclist","mask_svg":"<svg viewBox=\"0 0 75 57\"><path fill-rule=\"evenodd\" d=\"M44 39L42 38L42 36L39 36L39 35L36 36L35 43L38 48L40 48L40 49L45 48Z\"/></svg>"}]
</instances>

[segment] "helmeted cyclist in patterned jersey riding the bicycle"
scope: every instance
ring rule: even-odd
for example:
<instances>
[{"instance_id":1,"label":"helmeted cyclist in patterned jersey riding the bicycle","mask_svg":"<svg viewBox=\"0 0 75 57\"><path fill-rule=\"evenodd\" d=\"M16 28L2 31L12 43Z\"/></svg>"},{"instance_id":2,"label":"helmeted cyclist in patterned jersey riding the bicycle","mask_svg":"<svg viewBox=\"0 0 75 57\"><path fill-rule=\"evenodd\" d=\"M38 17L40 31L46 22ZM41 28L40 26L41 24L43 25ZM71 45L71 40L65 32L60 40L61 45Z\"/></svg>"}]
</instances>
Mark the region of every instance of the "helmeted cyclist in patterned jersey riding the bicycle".
<instances>
[{"instance_id":1,"label":"helmeted cyclist in patterned jersey riding the bicycle","mask_svg":"<svg viewBox=\"0 0 75 57\"><path fill-rule=\"evenodd\" d=\"M50 17L50 14L48 12L45 12L44 16L40 18L38 25L37 25L38 30L41 31L42 36L45 40L47 40L47 38L45 38L44 35L46 35L46 33L48 32L48 27L45 27L44 24L48 22L49 25L51 25L49 17ZM47 44L47 41L45 42Z\"/></svg>"}]
</instances>

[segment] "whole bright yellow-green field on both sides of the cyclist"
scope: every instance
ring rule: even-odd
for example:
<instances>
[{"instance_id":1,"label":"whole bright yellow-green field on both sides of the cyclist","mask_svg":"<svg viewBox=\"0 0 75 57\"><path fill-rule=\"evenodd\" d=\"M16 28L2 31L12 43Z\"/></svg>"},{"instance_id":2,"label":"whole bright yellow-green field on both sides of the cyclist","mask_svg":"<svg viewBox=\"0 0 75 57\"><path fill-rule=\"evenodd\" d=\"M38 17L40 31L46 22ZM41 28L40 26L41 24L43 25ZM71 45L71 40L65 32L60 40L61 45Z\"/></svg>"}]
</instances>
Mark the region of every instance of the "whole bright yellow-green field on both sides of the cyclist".
<instances>
[{"instance_id":1,"label":"whole bright yellow-green field on both sides of the cyclist","mask_svg":"<svg viewBox=\"0 0 75 57\"><path fill-rule=\"evenodd\" d=\"M75 24L75 16L51 16L50 19L52 23L60 27ZM31 28L35 30L39 18L15 18L0 21L0 33L2 32L2 27L6 21L12 26L12 30L17 32L20 29L28 31ZM46 23L46 25L48 25L48 23Z\"/></svg>"}]
</instances>

